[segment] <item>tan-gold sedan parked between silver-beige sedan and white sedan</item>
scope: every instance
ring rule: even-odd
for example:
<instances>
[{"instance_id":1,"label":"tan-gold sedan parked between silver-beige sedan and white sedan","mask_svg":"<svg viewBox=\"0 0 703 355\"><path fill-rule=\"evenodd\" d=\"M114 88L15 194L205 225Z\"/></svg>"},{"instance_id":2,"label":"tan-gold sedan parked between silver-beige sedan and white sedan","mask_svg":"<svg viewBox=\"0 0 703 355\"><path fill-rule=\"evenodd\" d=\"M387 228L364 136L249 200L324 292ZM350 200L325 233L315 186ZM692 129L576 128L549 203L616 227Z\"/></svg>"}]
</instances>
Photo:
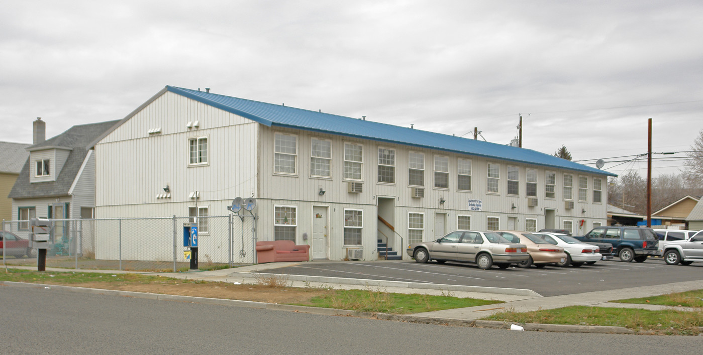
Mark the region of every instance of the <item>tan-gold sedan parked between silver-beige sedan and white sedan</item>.
<instances>
[{"instance_id":1,"label":"tan-gold sedan parked between silver-beige sedan and white sedan","mask_svg":"<svg viewBox=\"0 0 703 355\"><path fill-rule=\"evenodd\" d=\"M551 245L538 235L520 231L496 231L496 233L503 235L503 238L512 243L527 245L529 259L517 264L518 267L529 268L532 264L537 267L544 267L546 264L563 264L567 259L563 247Z\"/></svg>"}]
</instances>

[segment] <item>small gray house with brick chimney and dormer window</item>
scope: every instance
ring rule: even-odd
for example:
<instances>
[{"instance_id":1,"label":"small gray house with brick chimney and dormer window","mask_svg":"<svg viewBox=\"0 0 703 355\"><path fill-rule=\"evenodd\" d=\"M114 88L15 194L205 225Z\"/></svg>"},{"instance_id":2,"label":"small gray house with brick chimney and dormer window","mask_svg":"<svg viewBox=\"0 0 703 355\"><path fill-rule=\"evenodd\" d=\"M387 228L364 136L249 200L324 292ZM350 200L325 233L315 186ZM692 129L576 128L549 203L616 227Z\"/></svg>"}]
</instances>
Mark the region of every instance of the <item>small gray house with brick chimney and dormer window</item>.
<instances>
[{"instance_id":1,"label":"small gray house with brick chimney and dormer window","mask_svg":"<svg viewBox=\"0 0 703 355\"><path fill-rule=\"evenodd\" d=\"M45 140L46 123L33 122L34 144L10 192L12 219L92 218L95 209L95 154L90 145L117 121L81 124ZM55 228L56 238L67 233L67 224ZM18 224L26 236L29 224ZM58 239L56 239L58 240Z\"/></svg>"}]
</instances>

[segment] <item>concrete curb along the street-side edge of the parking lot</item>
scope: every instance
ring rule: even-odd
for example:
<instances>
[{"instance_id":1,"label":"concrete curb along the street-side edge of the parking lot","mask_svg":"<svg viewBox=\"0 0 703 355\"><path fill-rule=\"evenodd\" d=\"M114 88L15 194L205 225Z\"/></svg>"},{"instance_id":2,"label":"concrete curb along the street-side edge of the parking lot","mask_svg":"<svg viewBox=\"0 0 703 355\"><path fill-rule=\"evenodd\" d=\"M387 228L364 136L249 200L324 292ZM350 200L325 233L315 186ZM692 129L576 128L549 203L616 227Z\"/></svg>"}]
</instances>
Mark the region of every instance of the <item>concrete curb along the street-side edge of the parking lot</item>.
<instances>
[{"instance_id":1,"label":"concrete curb along the street-side edge of the parking lot","mask_svg":"<svg viewBox=\"0 0 703 355\"><path fill-rule=\"evenodd\" d=\"M280 275L272 273L256 273L256 272L233 272L227 277L245 278L246 276L271 276ZM467 286L467 285L447 285L437 283L413 283L406 281L386 281L386 280L366 280L360 278L335 278L330 276L305 276L305 275L286 275L288 280L316 282L316 283L334 283L342 285L369 285L374 287L392 287L392 288L418 288L424 290L446 290L446 291L462 291L462 292L479 292L479 293L496 293L498 295L515 295L527 297L542 297L542 295L522 288L489 288L483 286Z\"/></svg>"}]
</instances>

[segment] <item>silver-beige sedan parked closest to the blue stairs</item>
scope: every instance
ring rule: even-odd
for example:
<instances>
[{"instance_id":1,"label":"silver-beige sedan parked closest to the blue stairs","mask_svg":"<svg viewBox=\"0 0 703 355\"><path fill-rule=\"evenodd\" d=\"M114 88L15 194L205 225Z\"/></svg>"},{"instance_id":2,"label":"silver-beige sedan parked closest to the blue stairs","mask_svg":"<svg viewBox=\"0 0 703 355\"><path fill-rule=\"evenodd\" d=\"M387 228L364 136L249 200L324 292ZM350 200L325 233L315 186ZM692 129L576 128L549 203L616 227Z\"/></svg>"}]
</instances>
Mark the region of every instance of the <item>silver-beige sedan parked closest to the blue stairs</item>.
<instances>
[{"instance_id":1,"label":"silver-beige sedan parked closest to the blue stairs","mask_svg":"<svg viewBox=\"0 0 703 355\"><path fill-rule=\"evenodd\" d=\"M406 252L419 263L430 260L439 264L446 261L473 262L480 269L491 269L493 264L507 269L510 264L529 258L526 245L510 243L498 233L478 231L453 231L431 242L408 245Z\"/></svg>"}]
</instances>

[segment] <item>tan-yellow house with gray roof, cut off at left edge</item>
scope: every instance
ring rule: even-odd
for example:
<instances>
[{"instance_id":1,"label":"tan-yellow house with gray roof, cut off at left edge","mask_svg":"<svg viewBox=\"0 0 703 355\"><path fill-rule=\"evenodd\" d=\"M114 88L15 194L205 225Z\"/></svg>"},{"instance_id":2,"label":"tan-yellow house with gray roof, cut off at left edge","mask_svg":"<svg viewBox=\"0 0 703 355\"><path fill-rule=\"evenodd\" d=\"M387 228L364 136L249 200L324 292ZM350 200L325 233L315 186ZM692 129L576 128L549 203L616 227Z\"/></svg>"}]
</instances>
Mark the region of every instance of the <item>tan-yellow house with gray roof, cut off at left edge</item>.
<instances>
[{"instance_id":1,"label":"tan-yellow house with gray roof, cut off at left edge","mask_svg":"<svg viewBox=\"0 0 703 355\"><path fill-rule=\"evenodd\" d=\"M30 144L0 142L0 219L12 219L12 199L8 198L12 186L20 176L22 165L27 160L27 148Z\"/></svg>"}]
</instances>

